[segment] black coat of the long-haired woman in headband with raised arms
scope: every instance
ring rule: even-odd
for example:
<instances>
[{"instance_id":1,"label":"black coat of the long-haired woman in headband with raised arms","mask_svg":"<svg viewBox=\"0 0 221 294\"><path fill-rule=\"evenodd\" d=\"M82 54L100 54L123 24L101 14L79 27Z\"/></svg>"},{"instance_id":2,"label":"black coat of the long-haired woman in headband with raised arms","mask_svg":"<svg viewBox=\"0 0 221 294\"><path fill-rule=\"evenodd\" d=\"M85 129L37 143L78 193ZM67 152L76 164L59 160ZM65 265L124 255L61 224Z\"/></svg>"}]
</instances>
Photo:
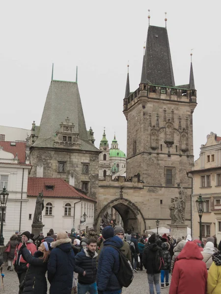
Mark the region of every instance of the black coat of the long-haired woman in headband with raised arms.
<instances>
[{"instance_id":1,"label":"black coat of the long-haired woman in headband with raised arms","mask_svg":"<svg viewBox=\"0 0 221 294\"><path fill-rule=\"evenodd\" d=\"M48 263L44 262L43 258L40 258L43 257L43 253L36 251L32 256L27 248L23 248L22 256L29 263L23 294L47 294L45 273Z\"/></svg>"}]
</instances>

